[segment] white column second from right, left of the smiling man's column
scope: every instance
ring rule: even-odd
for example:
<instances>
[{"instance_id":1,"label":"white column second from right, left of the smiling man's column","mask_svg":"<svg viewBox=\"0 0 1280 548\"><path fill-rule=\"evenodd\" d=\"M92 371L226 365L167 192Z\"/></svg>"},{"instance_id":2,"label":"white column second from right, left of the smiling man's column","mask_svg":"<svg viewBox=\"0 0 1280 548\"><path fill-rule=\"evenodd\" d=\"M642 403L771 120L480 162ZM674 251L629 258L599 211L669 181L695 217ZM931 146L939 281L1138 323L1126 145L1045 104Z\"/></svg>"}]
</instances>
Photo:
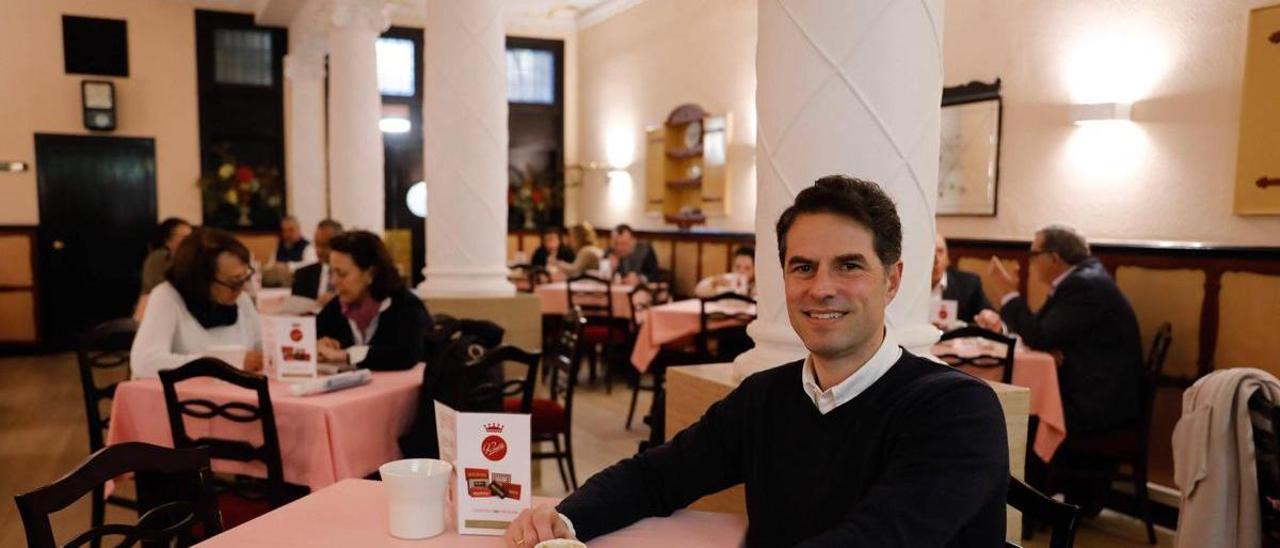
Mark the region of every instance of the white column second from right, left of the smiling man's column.
<instances>
[{"instance_id":1,"label":"white column second from right, left of the smiling man's column","mask_svg":"<svg viewBox=\"0 0 1280 548\"><path fill-rule=\"evenodd\" d=\"M507 54L497 0L428 0L424 297L507 297Z\"/></svg>"}]
</instances>

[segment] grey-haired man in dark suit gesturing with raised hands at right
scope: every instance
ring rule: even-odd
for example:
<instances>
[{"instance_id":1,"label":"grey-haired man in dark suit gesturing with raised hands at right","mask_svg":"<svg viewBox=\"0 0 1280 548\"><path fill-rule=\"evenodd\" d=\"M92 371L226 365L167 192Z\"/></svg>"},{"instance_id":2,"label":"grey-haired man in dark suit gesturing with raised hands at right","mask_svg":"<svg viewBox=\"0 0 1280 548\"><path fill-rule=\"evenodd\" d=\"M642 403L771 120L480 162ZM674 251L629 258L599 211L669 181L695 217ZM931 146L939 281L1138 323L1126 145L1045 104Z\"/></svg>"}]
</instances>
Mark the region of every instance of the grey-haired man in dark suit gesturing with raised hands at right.
<instances>
[{"instance_id":1,"label":"grey-haired man in dark suit gesturing with raised hands at right","mask_svg":"<svg viewBox=\"0 0 1280 548\"><path fill-rule=\"evenodd\" d=\"M1133 425L1139 416L1142 339L1129 300L1074 228L1039 229L1029 266L1050 284L1039 310L1032 312L1016 275L992 257L1000 314L979 314L978 324L1000 329L1002 319L1032 348L1061 356L1057 376L1068 435Z\"/></svg>"}]
</instances>

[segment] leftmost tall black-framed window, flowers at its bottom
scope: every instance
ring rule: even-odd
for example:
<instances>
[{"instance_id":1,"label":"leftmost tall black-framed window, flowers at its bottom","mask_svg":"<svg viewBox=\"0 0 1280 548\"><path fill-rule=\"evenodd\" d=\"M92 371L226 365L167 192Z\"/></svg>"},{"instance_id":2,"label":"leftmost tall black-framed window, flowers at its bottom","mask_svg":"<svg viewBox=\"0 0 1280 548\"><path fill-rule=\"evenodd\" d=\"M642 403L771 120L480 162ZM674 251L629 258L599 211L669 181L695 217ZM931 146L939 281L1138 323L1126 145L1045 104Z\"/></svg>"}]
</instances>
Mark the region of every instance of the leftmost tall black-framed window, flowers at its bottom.
<instances>
[{"instance_id":1,"label":"leftmost tall black-framed window, flowers at its bottom","mask_svg":"<svg viewBox=\"0 0 1280 548\"><path fill-rule=\"evenodd\" d=\"M275 229L285 211L288 33L253 15L196 10L204 224Z\"/></svg>"}]
</instances>

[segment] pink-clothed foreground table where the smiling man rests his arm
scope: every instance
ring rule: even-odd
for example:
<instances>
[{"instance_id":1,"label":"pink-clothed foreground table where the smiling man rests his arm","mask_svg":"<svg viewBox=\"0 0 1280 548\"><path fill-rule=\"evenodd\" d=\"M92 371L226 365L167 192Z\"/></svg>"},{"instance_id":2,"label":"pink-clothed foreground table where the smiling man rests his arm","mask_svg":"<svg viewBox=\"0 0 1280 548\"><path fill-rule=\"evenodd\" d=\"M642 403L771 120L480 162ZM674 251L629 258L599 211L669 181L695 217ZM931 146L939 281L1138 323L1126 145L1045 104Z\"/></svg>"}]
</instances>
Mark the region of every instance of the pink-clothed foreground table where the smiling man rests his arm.
<instances>
[{"instance_id":1,"label":"pink-clothed foreground table where the smiling man rests his arm","mask_svg":"<svg viewBox=\"0 0 1280 548\"><path fill-rule=\"evenodd\" d=\"M556 499L534 497L534 504ZM422 540L397 539L388 531L387 492L381 481L351 479L311 493L224 531L200 547L476 547L500 548L502 536L460 535L453 511L447 510L444 533ZM735 513L684 510L671 517L650 517L630 528L593 539L591 548L733 547L742 543L746 517ZM532 548L526 543L525 548Z\"/></svg>"}]
</instances>

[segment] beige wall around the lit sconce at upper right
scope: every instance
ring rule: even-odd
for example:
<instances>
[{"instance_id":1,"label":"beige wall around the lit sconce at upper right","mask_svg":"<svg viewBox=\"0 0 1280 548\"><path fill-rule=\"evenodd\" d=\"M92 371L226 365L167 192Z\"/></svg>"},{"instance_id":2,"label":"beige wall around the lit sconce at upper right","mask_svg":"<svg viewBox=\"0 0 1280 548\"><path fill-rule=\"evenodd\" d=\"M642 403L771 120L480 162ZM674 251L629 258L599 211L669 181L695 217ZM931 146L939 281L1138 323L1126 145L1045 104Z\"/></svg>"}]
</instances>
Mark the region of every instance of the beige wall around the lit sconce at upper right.
<instances>
[{"instance_id":1,"label":"beige wall around the lit sconce at upper right","mask_svg":"<svg viewBox=\"0 0 1280 548\"><path fill-rule=\"evenodd\" d=\"M946 83L1004 81L1000 215L952 237L1280 245L1280 218L1231 214L1248 12L1274 0L948 0ZM1126 61L1126 59L1129 61ZM1134 124L1080 128L1068 106L1137 99Z\"/></svg>"}]
</instances>

